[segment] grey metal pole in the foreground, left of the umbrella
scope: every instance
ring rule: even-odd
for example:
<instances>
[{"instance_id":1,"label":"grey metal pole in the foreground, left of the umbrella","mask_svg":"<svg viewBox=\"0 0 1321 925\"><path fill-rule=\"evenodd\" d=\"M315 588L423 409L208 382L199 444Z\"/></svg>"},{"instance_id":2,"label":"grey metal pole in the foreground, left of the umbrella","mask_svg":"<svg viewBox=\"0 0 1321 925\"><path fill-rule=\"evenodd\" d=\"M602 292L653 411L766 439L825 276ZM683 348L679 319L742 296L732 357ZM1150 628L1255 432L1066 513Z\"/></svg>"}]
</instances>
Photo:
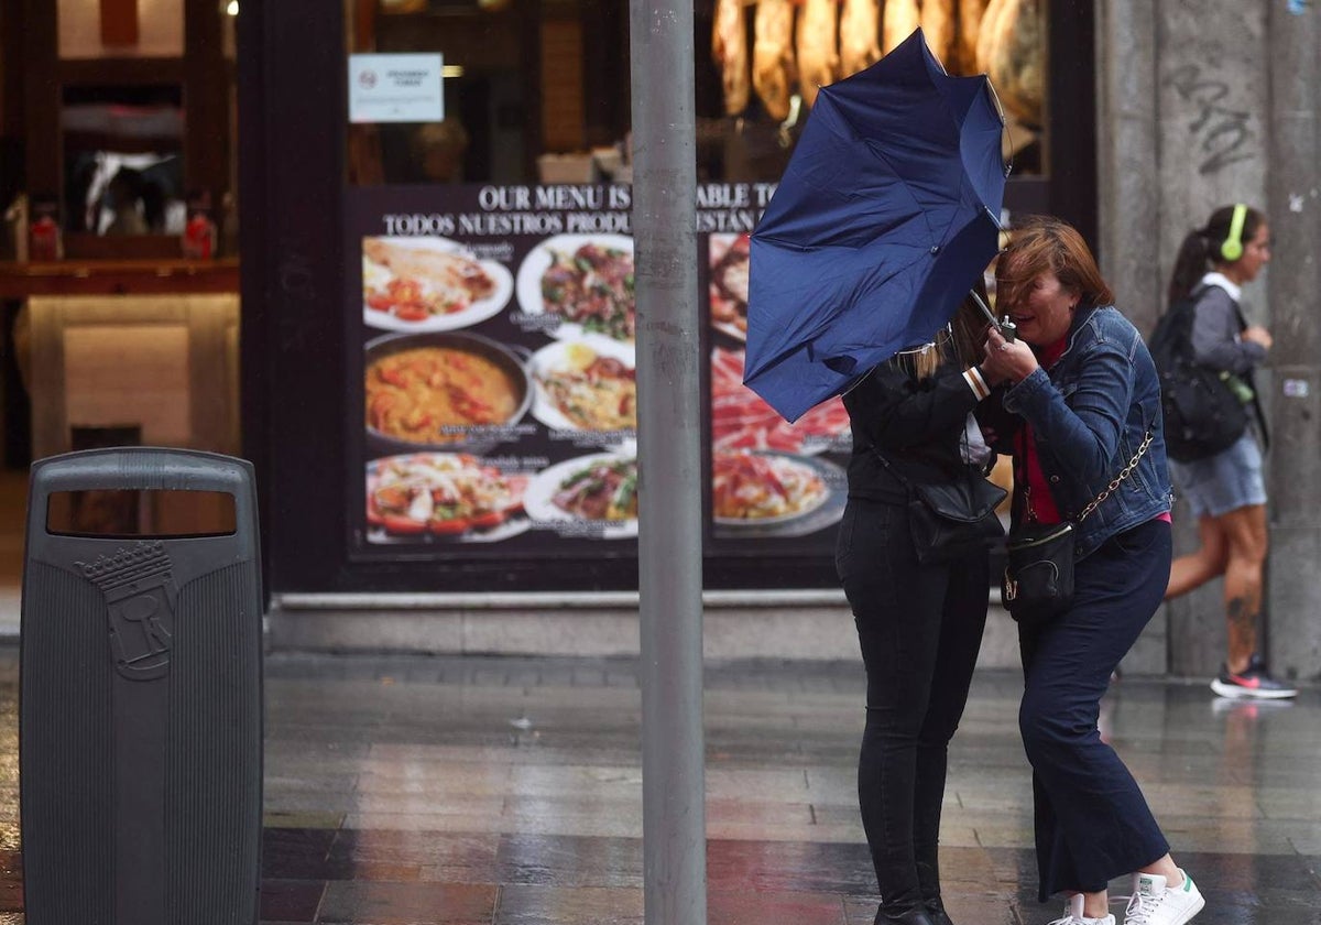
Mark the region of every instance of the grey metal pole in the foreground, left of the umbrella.
<instances>
[{"instance_id":1,"label":"grey metal pole in the foreground, left of the umbrella","mask_svg":"<svg viewBox=\"0 0 1321 925\"><path fill-rule=\"evenodd\" d=\"M647 925L707 921L692 0L631 0Z\"/></svg>"}]
</instances>

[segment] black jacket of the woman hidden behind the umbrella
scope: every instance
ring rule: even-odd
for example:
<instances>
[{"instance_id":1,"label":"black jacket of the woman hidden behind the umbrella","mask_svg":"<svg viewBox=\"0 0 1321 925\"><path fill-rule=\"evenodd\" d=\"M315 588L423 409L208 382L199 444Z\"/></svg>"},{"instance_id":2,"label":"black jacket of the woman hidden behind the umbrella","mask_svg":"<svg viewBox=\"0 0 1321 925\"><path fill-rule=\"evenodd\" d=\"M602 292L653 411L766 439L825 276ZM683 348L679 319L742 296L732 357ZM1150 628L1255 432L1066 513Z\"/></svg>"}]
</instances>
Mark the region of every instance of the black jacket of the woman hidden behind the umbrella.
<instances>
[{"instance_id":1,"label":"black jacket of the woman hidden behind the umbrella","mask_svg":"<svg viewBox=\"0 0 1321 925\"><path fill-rule=\"evenodd\" d=\"M902 503L908 489L876 457L880 449L890 465L911 482L966 478L960 444L976 396L952 363L921 382L894 361L881 363L844 394L853 431L848 461L848 496ZM980 469L972 466L980 474Z\"/></svg>"}]
</instances>

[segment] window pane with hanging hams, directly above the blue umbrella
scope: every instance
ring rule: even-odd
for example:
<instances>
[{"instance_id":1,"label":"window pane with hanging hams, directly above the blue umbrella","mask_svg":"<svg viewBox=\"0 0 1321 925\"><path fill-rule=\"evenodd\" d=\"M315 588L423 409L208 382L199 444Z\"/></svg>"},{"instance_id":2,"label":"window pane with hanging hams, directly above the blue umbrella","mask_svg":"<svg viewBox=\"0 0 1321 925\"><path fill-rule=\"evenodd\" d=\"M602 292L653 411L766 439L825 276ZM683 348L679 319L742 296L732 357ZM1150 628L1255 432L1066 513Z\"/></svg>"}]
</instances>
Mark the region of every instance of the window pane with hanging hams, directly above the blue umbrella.
<instances>
[{"instance_id":1,"label":"window pane with hanging hams, directly above the blue umbrella","mask_svg":"<svg viewBox=\"0 0 1321 925\"><path fill-rule=\"evenodd\" d=\"M956 0L713 0L699 9L699 173L774 181L816 87L855 74L921 26L951 74L988 74L1013 176L1044 173L1045 4Z\"/></svg>"}]
</instances>

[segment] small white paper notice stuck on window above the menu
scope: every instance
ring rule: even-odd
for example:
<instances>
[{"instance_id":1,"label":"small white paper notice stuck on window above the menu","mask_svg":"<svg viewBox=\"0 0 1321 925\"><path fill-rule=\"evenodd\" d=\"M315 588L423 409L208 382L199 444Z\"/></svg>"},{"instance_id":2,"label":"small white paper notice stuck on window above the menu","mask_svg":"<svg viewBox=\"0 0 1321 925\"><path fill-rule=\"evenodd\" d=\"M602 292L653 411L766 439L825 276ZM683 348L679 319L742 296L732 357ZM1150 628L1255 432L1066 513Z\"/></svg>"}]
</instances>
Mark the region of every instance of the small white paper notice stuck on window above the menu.
<instances>
[{"instance_id":1,"label":"small white paper notice stuck on window above the menu","mask_svg":"<svg viewBox=\"0 0 1321 925\"><path fill-rule=\"evenodd\" d=\"M350 54L349 122L440 122L443 63L439 54Z\"/></svg>"}]
</instances>

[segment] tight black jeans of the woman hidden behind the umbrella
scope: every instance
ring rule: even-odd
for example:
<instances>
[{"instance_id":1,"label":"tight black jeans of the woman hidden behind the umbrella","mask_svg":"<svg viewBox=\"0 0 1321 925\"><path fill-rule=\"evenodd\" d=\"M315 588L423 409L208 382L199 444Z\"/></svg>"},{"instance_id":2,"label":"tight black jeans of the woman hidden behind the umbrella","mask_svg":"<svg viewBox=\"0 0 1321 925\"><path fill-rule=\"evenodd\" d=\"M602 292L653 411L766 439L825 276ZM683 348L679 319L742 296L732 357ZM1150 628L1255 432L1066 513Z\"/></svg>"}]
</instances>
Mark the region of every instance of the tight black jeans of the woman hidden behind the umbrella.
<instances>
[{"instance_id":1,"label":"tight black jeans of the woman hidden behind the umbrella","mask_svg":"<svg viewBox=\"0 0 1321 925\"><path fill-rule=\"evenodd\" d=\"M906 506L849 498L835 567L867 667L863 829L881 906L904 910L941 891L946 755L985 628L988 563L919 566Z\"/></svg>"}]
</instances>

